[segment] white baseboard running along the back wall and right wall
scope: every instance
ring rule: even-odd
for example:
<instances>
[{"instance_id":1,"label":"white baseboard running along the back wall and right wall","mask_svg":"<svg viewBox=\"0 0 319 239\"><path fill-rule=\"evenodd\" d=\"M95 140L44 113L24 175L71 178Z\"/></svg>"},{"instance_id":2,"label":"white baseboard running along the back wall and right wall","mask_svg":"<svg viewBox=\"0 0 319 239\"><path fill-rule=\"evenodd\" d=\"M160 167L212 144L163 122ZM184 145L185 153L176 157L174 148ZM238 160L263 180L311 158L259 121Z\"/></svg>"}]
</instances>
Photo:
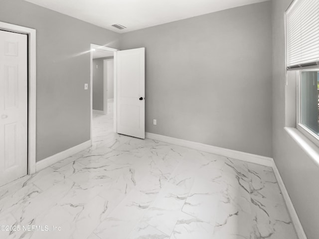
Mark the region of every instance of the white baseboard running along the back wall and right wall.
<instances>
[{"instance_id":1,"label":"white baseboard running along the back wall and right wall","mask_svg":"<svg viewBox=\"0 0 319 239\"><path fill-rule=\"evenodd\" d=\"M296 233L298 235L299 239L307 239L306 234L304 232L304 229L300 223L300 220L298 218L298 215L296 213L296 210L294 208L294 205L289 197L289 194L287 192L287 189L285 187L285 184L279 174L279 171L276 167L275 161L273 158L265 157L265 156L260 156L260 155L255 155L255 154L249 154L249 153L244 153L236 150L231 150L231 149L225 149L225 148L220 148L212 145L207 145L207 144L201 144L197 142L192 142L192 141L187 141L187 140L182 140L182 139L176 139L164 135L159 135L159 134L153 134L153 133L148 133L146 132L146 138L149 139L154 139L174 145L179 145L179 146L184 146L187 148L191 149L196 149L200 150L203 152L208 152L212 154L217 154L221 156L225 156L228 158L233 158L233 159L239 159L242 161L246 161L249 163L255 163L255 164L260 164L264 166L268 166L273 168L273 171L275 173L278 185L280 187L280 190L283 194L288 212L291 216L293 225L295 227Z\"/></svg>"}]
</instances>

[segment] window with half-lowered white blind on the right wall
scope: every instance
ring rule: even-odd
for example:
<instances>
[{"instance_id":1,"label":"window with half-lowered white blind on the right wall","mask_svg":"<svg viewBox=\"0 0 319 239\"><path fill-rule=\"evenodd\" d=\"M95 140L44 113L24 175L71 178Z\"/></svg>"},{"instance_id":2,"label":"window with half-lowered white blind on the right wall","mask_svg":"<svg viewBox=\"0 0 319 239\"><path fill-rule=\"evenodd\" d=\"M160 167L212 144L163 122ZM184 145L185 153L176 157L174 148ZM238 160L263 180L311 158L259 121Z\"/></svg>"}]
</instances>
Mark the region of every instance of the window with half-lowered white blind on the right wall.
<instances>
[{"instance_id":1,"label":"window with half-lowered white blind on the right wall","mask_svg":"<svg viewBox=\"0 0 319 239\"><path fill-rule=\"evenodd\" d=\"M287 70L297 71L297 128L319 145L319 0L286 11Z\"/></svg>"}]
</instances>

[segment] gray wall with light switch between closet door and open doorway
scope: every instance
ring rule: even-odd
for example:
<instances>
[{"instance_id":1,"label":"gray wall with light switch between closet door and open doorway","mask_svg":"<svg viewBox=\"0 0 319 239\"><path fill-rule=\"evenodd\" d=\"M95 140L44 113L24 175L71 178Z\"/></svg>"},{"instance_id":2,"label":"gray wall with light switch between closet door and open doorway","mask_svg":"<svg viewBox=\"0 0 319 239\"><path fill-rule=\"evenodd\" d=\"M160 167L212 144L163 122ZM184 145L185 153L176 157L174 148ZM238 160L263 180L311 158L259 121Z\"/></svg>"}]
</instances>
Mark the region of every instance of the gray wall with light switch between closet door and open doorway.
<instances>
[{"instance_id":1,"label":"gray wall with light switch between closet door and open doorway","mask_svg":"<svg viewBox=\"0 0 319 239\"><path fill-rule=\"evenodd\" d=\"M90 139L90 43L119 34L23 0L1 0L0 21L36 32L36 161Z\"/></svg>"}]
</instances>

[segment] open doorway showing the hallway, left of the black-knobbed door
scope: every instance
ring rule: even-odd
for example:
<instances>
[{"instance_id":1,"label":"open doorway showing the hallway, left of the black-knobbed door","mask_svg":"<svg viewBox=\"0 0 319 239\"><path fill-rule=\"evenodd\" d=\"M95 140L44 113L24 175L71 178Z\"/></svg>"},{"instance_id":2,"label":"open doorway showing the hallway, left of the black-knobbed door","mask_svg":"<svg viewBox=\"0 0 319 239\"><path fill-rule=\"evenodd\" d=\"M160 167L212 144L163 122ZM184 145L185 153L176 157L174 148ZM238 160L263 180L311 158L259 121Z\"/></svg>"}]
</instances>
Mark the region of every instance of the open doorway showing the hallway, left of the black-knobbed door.
<instances>
[{"instance_id":1,"label":"open doorway showing the hallway, left of the black-knobbed door","mask_svg":"<svg viewBox=\"0 0 319 239\"><path fill-rule=\"evenodd\" d=\"M117 49L91 44L91 141L114 131L114 52Z\"/></svg>"}]
</instances>

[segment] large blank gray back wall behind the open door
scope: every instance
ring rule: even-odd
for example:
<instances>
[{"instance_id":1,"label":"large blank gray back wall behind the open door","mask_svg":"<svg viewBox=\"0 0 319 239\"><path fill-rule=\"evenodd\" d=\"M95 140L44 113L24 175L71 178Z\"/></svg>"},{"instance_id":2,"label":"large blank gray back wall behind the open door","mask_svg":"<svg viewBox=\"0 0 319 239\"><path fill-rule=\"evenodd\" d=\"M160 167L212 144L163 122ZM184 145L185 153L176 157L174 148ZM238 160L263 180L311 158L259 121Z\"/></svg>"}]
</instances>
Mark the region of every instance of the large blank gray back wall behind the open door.
<instances>
[{"instance_id":1,"label":"large blank gray back wall behind the open door","mask_svg":"<svg viewBox=\"0 0 319 239\"><path fill-rule=\"evenodd\" d=\"M147 132L272 156L270 1L121 37L146 47Z\"/></svg>"}]
</instances>

